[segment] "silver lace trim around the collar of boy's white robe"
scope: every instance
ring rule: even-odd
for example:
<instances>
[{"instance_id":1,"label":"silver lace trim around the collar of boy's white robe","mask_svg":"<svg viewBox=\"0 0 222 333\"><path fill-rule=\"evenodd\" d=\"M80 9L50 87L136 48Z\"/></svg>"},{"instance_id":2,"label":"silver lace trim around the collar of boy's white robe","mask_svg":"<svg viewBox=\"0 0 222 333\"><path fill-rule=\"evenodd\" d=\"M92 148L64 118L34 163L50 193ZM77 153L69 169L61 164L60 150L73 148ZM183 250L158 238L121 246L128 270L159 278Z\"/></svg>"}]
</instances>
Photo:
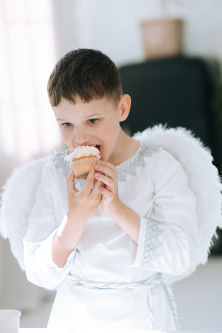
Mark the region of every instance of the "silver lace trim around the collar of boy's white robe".
<instances>
[{"instance_id":1,"label":"silver lace trim around the collar of boy's white robe","mask_svg":"<svg viewBox=\"0 0 222 333\"><path fill-rule=\"evenodd\" d=\"M146 143L141 143L136 153L128 160L116 166L117 179L121 182L125 182L128 175L134 176L137 173L138 168L145 166L145 158L151 157L154 153L158 152L161 148L149 146ZM70 173L70 162L65 161L64 157L67 156L68 149L57 153L52 160L55 162L57 168L62 169L62 174L68 177ZM83 182L83 179L76 179ZM75 180L75 181L76 181Z\"/></svg>"}]
</instances>

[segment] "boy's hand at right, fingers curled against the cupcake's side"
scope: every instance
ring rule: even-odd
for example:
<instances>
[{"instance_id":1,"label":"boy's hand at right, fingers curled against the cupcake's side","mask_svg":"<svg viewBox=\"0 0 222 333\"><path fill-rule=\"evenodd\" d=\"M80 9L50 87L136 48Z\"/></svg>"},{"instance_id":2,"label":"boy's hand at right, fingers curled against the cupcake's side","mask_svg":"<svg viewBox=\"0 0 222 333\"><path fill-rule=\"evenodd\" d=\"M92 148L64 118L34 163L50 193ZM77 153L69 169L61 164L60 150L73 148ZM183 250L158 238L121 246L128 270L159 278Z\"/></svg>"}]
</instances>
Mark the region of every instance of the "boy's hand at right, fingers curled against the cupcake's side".
<instances>
[{"instance_id":1,"label":"boy's hand at right, fingers curled against the cupcake's side","mask_svg":"<svg viewBox=\"0 0 222 333\"><path fill-rule=\"evenodd\" d=\"M118 184L116 167L105 161L98 161L95 165L95 178L104 183L105 186L100 186L99 190L102 193L103 212L105 215L113 217L117 214L122 201L118 195Z\"/></svg>"}]
</instances>

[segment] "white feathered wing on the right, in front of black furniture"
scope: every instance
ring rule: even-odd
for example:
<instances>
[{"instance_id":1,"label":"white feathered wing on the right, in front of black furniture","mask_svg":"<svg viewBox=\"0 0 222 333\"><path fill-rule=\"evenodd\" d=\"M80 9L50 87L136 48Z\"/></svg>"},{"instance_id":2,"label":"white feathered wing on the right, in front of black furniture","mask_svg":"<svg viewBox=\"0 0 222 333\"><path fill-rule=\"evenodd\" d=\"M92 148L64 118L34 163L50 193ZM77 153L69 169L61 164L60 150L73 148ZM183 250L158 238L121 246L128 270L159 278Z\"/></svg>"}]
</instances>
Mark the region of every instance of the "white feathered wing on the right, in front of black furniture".
<instances>
[{"instance_id":1,"label":"white feathered wing on the right, in front of black furniture","mask_svg":"<svg viewBox=\"0 0 222 333\"><path fill-rule=\"evenodd\" d=\"M212 164L210 149L204 147L185 128L166 128L161 124L136 133L134 139L148 145L162 147L169 152L185 170L189 186L197 198L197 256L192 267L181 276L167 276L169 282L189 276L199 264L207 262L211 239L216 229L222 227L222 184L217 168Z\"/></svg>"}]
</instances>

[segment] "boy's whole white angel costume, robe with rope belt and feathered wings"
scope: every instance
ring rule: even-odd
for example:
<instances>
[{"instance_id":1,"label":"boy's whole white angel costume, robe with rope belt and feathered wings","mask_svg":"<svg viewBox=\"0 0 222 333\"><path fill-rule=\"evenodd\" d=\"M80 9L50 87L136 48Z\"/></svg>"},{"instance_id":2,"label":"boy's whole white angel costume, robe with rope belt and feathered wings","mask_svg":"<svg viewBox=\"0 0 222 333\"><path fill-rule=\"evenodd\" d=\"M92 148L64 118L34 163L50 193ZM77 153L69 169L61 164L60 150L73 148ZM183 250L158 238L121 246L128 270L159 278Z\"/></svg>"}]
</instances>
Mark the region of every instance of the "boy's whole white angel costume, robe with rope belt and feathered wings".
<instances>
[{"instance_id":1,"label":"boy's whole white angel costume, robe with rope belt and feathered wings","mask_svg":"<svg viewBox=\"0 0 222 333\"><path fill-rule=\"evenodd\" d=\"M27 279L57 290L49 328L179 329L170 284L206 263L222 227L221 182L210 151L186 129L159 125L134 138L139 149L116 169L119 198L140 215L138 244L100 204L65 267L52 261L68 208L68 150L15 170L5 185L2 235Z\"/></svg>"}]
</instances>

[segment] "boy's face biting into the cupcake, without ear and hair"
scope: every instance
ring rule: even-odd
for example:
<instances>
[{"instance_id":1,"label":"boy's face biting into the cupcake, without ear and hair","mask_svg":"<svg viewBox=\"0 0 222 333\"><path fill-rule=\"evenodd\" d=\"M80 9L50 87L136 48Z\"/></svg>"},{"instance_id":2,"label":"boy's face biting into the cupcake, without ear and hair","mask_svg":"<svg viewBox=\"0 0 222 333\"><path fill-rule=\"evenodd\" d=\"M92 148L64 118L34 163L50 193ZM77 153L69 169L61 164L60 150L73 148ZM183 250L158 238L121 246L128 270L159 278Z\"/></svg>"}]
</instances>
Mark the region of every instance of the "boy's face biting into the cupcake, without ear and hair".
<instances>
[{"instance_id":1,"label":"boy's face biting into the cupcake, without ear and hair","mask_svg":"<svg viewBox=\"0 0 222 333\"><path fill-rule=\"evenodd\" d=\"M79 145L96 145L101 160L113 160L121 149L120 107L115 108L105 97L89 103L78 98L75 105L71 103L62 99L53 107L64 143L72 151Z\"/></svg>"}]
</instances>

